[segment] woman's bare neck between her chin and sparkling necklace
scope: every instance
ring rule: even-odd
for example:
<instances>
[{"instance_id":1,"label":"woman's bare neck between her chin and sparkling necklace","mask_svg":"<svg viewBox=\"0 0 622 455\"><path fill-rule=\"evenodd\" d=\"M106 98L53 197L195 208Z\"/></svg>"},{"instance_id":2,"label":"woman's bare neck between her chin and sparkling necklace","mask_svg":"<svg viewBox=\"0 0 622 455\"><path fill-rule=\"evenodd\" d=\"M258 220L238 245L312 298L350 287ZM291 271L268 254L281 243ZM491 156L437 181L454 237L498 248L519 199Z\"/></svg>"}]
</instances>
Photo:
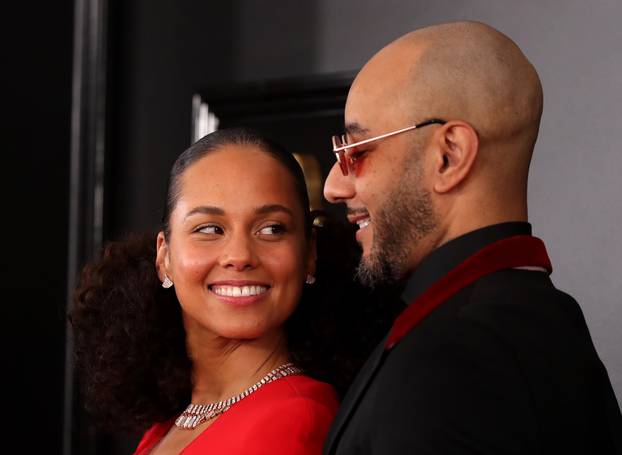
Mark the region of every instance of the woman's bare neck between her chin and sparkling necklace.
<instances>
[{"instance_id":1,"label":"woman's bare neck between her chin and sparkling necklace","mask_svg":"<svg viewBox=\"0 0 622 455\"><path fill-rule=\"evenodd\" d=\"M283 330L254 340L188 334L186 343L193 365L193 403L226 400L289 361Z\"/></svg>"}]
</instances>

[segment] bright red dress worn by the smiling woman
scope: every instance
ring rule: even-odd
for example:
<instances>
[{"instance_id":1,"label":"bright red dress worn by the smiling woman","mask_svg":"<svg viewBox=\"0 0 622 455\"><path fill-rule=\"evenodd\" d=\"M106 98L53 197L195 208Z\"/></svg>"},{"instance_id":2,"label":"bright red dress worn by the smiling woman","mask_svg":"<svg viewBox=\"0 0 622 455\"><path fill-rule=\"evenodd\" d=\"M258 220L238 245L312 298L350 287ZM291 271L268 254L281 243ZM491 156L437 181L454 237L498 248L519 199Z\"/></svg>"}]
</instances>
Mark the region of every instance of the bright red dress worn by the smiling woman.
<instances>
[{"instance_id":1,"label":"bright red dress worn by the smiling woman","mask_svg":"<svg viewBox=\"0 0 622 455\"><path fill-rule=\"evenodd\" d=\"M320 454L337 406L330 385L308 376L287 376L233 405L180 454ZM173 422L147 430L134 455L148 454Z\"/></svg>"}]
</instances>

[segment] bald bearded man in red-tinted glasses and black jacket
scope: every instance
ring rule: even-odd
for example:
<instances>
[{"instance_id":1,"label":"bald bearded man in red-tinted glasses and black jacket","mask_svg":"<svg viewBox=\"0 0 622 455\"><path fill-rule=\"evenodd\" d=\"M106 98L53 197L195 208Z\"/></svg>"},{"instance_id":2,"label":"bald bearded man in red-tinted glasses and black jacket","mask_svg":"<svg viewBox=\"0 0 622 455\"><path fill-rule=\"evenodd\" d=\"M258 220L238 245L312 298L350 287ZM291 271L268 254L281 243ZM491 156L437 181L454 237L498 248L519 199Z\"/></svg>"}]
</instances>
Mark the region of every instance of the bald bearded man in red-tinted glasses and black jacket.
<instances>
[{"instance_id":1,"label":"bald bearded man in red-tinted glasses and black jacket","mask_svg":"<svg viewBox=\"0 0 622 455\"><path fill-rule=\"evenodd\" d=\"M533 66L480 23L409 33L356 77L324 192L359 226L359 278L409 305L325 453L621 453L607 372L527 223L541 113Z\"/></svg>"}]
</instances>

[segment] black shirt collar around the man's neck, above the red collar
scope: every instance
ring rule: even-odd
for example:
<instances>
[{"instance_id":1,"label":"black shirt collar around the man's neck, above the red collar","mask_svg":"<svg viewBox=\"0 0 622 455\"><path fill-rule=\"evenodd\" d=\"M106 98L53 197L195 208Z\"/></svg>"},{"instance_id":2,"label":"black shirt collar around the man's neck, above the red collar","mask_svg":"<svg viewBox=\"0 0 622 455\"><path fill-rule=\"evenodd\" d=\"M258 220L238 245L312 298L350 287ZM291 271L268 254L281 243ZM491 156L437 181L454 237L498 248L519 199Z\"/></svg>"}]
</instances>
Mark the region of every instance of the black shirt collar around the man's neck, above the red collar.
<instances>
[{"instance_id":1,"label":"black shirt collar around the man's neck, above the red collar","mask_svg":"<svg viewBox=\"0 0 622 455\"><path fill-rule=\"evenodd\" d=\"M513 221L486 226L450 240L426 256L410 276L402 292L406 303L412 302L427 288L486 245L506 237L531 235L531 225Z\"/></svg>"}]
</instances>

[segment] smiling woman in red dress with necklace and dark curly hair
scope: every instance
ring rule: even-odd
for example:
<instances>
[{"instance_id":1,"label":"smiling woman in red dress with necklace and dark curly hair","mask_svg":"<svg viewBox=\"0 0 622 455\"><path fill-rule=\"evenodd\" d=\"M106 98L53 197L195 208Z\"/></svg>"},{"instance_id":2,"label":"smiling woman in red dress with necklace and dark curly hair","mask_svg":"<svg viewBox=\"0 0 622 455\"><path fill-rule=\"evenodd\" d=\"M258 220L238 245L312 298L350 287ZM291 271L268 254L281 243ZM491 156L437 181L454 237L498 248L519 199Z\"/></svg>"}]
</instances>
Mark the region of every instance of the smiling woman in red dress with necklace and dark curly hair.
<instances>
[{"instance_id":1,"label":"smiling woman in red dress with necklace and dark curly hair","mask_svg":"<svg viewBox=\"0 0 622 455\"><path fill-rule=\"evenodd\" d=\"M218 131L175 162L156 251L113 244L85 270L71 320L87 402L108 426L151 426L136 454L321 452L337 394L318 379L343 390L384 327L350 336L361 312L336 299L365 296L335 259L346 243L316 265L327 232L308 206L291 154Z\"/></svg>"}]
</instances>

